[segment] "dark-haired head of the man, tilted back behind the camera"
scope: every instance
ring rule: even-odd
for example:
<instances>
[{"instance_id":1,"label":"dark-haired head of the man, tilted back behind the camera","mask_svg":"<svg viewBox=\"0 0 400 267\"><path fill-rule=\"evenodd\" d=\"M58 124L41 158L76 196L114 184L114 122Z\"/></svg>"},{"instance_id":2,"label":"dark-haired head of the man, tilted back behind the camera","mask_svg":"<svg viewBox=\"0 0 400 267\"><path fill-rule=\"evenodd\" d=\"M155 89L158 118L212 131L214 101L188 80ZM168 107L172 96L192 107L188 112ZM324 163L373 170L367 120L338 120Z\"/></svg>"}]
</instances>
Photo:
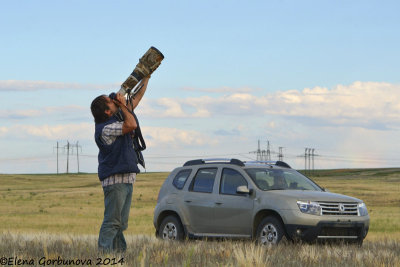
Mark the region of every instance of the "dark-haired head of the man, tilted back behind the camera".
<instances>
[{"instance_id":1,"label":"dark-haired head of the man, tilted back behind the camera","mask_svg":"<svg viewBox=\"0 0 400 267\"><path fill-rule=\"evenodd\" d=\"M108 96L100 95L92 101L90 110L92 111L94 122L102 123L118 111L118 106Z\"/></svg>"}]
</instances>

